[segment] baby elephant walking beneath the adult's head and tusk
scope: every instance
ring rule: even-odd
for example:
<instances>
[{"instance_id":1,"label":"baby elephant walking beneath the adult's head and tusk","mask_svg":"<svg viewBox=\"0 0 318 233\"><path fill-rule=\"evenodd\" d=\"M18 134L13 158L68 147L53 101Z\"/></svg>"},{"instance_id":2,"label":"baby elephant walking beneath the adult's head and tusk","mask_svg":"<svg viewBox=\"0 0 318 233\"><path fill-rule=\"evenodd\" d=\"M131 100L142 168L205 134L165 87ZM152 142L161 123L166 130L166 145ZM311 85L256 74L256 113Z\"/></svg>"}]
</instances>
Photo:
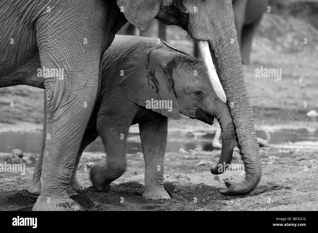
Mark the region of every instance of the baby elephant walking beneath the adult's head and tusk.
<instances>
[{"instance_id":1,"label":"baby elephant walking beneath the adult's head and tusk","mask_svg":"<svg viewBox=\"0 0 318 233\"><path fill-rule=\"evenodd\" d=\"M107 65L105 65L107 64ZM180 114L209 125L214 117L222 129L219 164L230 163L235 139L227 103L214 92L204 64L155 38L116 36L103 56L99 96L76 158L70 187L82 188L76 179L80 156L100 135L107 153L106 166L95 166L91 180L98 191L126 169L128 129L138 123L145 160L146 199L170 199L163 188L163 158L168 117ZM211 169L219 174L218 167Z\"/></svg>"}]
</instances>

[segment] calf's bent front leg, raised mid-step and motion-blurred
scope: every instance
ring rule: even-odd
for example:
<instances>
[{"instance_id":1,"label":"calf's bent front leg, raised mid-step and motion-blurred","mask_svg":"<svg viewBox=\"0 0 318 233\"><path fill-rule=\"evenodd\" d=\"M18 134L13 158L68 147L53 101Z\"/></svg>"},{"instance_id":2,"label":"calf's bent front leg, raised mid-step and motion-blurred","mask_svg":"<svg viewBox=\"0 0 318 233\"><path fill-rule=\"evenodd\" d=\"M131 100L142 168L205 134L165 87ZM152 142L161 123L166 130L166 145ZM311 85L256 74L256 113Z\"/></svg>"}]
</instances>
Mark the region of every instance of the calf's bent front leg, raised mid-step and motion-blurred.
<instances>
[{"instance_id":1,"label":"calf's bent front leg, raised mid-step and motion-blurred","mask_svg":"<svg viewBox=\"0 0 318 233\"><path fill-rule=\"evenodd\" d=\"M91 170L91 180L97 191L108 191L109 184L126 170L126 140L132 121L128 119L127 113L128 110L121 116L115 115L112 118L99 113L102 117L97 120L97 131L103 141L107 159L106 166L94 166Z\"/></svg>"}]
</instances>

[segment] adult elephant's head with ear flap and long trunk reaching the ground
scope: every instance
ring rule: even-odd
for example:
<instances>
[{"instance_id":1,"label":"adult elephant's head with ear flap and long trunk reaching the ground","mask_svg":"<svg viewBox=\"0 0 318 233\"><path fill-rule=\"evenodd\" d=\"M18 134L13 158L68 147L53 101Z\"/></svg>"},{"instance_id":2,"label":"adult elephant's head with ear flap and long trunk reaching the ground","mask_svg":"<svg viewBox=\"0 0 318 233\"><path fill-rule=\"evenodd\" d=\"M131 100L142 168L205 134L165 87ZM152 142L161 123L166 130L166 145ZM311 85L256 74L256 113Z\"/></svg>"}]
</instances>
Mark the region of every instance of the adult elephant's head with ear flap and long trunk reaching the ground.
<instances>
[{"instance_id":1,"label":"adult elephant's head with ear flap and long trunk reaching the ground","mask_svg":"<svg viewBox=\"0 0 318 233\"><path fill-rule=\"evenodd\" d=\"M245 162L246 176L242 183L226 181L224 195L243 195L258 184L261 161L252 107L247 95L241 56L234 25L231 0L117 0L128 21L144 30L156 18L167 25L178 25L198 41L209 79L218 96L224 100L213 63L226 94L233 118L236 140ZM211 59L212 57L212 59ZM163 65L164 66L164 65Z\"/></svg>"}]
</instances>

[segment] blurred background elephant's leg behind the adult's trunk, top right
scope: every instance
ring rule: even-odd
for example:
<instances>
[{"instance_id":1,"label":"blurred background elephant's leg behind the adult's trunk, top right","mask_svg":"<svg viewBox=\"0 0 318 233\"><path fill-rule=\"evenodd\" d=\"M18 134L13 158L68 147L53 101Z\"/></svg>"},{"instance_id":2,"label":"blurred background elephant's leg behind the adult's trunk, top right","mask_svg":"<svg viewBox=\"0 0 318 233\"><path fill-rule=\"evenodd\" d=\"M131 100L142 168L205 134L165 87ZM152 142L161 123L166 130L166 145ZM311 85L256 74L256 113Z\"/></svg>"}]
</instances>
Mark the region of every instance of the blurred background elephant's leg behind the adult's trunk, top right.
<instances>
[{"instance_id":1,"label":"blurred background elephant's leg behind the adult's trunk, top right","mask_svg":"<svg viewBox=\"0 0 318 233\"><path fill-rule=\"evenodd\" d=\"M250 63L252 39L269 0L232 0L242 63Z\"/></svg>"}]
</instances>

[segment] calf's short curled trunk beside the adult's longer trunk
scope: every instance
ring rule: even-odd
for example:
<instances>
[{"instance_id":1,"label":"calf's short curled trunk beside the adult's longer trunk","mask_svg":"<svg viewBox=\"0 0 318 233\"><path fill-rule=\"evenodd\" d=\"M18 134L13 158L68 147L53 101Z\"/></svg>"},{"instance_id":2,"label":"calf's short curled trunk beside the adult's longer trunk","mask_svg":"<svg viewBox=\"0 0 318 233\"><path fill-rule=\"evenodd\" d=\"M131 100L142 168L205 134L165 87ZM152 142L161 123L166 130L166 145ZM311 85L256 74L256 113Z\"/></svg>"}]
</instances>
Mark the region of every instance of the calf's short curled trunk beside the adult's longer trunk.
<instances>
[{"instance_id":1,"label":"calf's short curled trunk beside the adult's longer trunk","mask_svg":"<svg viewBox=\"0 0 318 233\"><path fill-rule=\"evenodd\" d=\"M233 155L233 147L235 140L235 127L230 114L230 109L226 107L217 116L222 132L222 150L220 160L215 168L211 169L212 174L221 174L225 172L226 164L230 164Z\"/></svg>"}]
</instances>

